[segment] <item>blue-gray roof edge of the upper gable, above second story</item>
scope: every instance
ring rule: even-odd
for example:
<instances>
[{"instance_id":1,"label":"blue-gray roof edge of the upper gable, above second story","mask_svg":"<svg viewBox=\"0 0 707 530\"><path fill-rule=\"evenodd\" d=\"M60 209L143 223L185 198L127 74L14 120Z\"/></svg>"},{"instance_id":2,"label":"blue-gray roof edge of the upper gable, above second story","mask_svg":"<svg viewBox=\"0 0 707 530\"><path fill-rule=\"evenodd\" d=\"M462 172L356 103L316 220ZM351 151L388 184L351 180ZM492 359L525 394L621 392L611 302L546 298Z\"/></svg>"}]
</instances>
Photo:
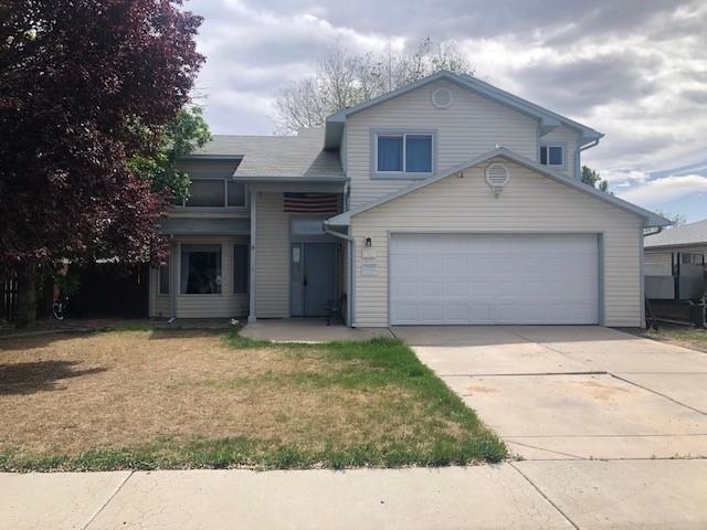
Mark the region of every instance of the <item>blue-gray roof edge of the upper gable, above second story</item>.
<instances>
[{"instance_id":1,"label":"blue-gray roof edge of the upper gable, above second story","mask_svg":"<svg viewBox=\"0 0 707 530\"><path fill-rule=\"evenodd\" d=\"M418 80L412 82L401 88L389 92L381 96L374 97L367 102L363 102L359 105L355 105L352 107L344 108L338 113L335 113L327 117L326 119L326 132L325 132L325 148L326 149L336 149L339 147L341 141L341 134L344 131L344 124L346 123L346 118L352 114L360 113L367 108L370 108L374 105L379 105L394 97L407 94L411 91L420 88L422 86L429 85L430 83L434 83L435 81L449 81L450 83L454 83L462 88L469 89L475 92L482 96L488 97L489 99L510 107L519 113L534 117L540 120L541 130L548 132L549 130L558 127L560 125L564 125L570 127L582 135L582 139L585 140L584 144L589 144L592 141L597 141L602 138L604 135L599 132L598 130L592 129L591 127L587 127L578 121L574 121L570 118L567 118L560 114L553 113L545 107L536 105L535 103L528 102L521 97L518 97L509 92L502 91L484 81L481 81L477 77L473 77L466 74L454 74L446 70L441 70L428 77L423 77L422 80ZM544 132L544 134L545 134Z\"/></svg>"}]
</instances>

